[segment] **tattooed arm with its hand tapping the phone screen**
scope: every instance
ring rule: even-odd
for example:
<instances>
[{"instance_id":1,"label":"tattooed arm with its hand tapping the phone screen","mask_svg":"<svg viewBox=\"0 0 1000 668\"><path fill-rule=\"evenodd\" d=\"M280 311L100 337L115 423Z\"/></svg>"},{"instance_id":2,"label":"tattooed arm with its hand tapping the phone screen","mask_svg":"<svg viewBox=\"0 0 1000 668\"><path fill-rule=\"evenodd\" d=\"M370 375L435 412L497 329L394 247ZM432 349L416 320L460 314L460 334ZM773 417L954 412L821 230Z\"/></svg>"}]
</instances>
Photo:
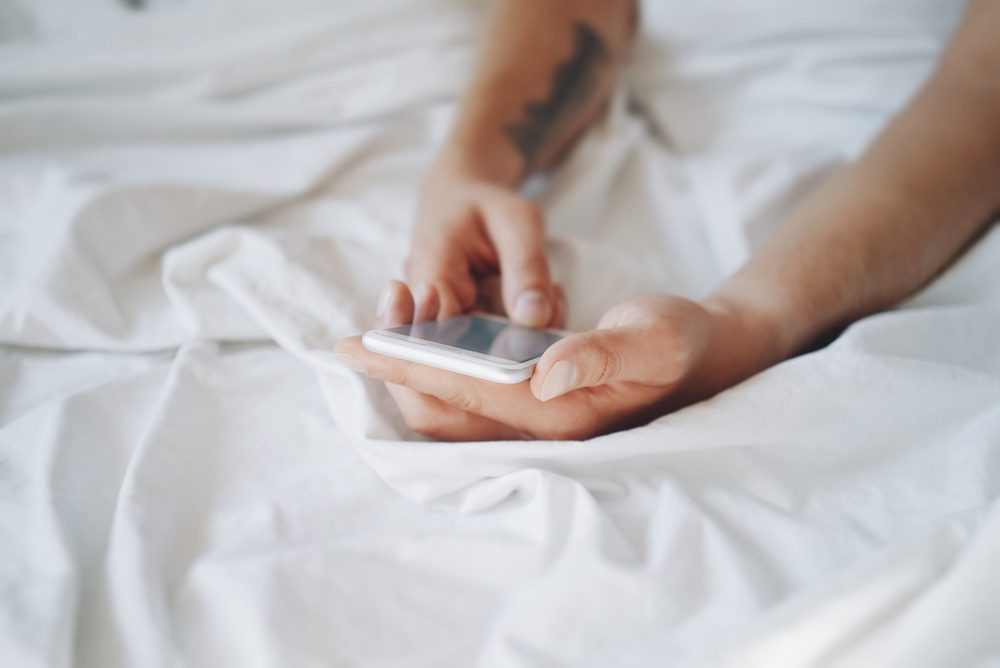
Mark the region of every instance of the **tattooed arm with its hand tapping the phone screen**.
<instances>
[{"instance_id":1,"label":"tattooed arm with its hand tapping the phone screen","mask_svg":"<svg viewBox=\"0 0 1000 668\"><path fill-rule=\"evenodd\" d=\"M631 40L634 0L501 0L455 123L425 180L406 279L417 320L488 301L555 324L544 221L517 192L600 112Z\"/></svg>"}]
</instances>

